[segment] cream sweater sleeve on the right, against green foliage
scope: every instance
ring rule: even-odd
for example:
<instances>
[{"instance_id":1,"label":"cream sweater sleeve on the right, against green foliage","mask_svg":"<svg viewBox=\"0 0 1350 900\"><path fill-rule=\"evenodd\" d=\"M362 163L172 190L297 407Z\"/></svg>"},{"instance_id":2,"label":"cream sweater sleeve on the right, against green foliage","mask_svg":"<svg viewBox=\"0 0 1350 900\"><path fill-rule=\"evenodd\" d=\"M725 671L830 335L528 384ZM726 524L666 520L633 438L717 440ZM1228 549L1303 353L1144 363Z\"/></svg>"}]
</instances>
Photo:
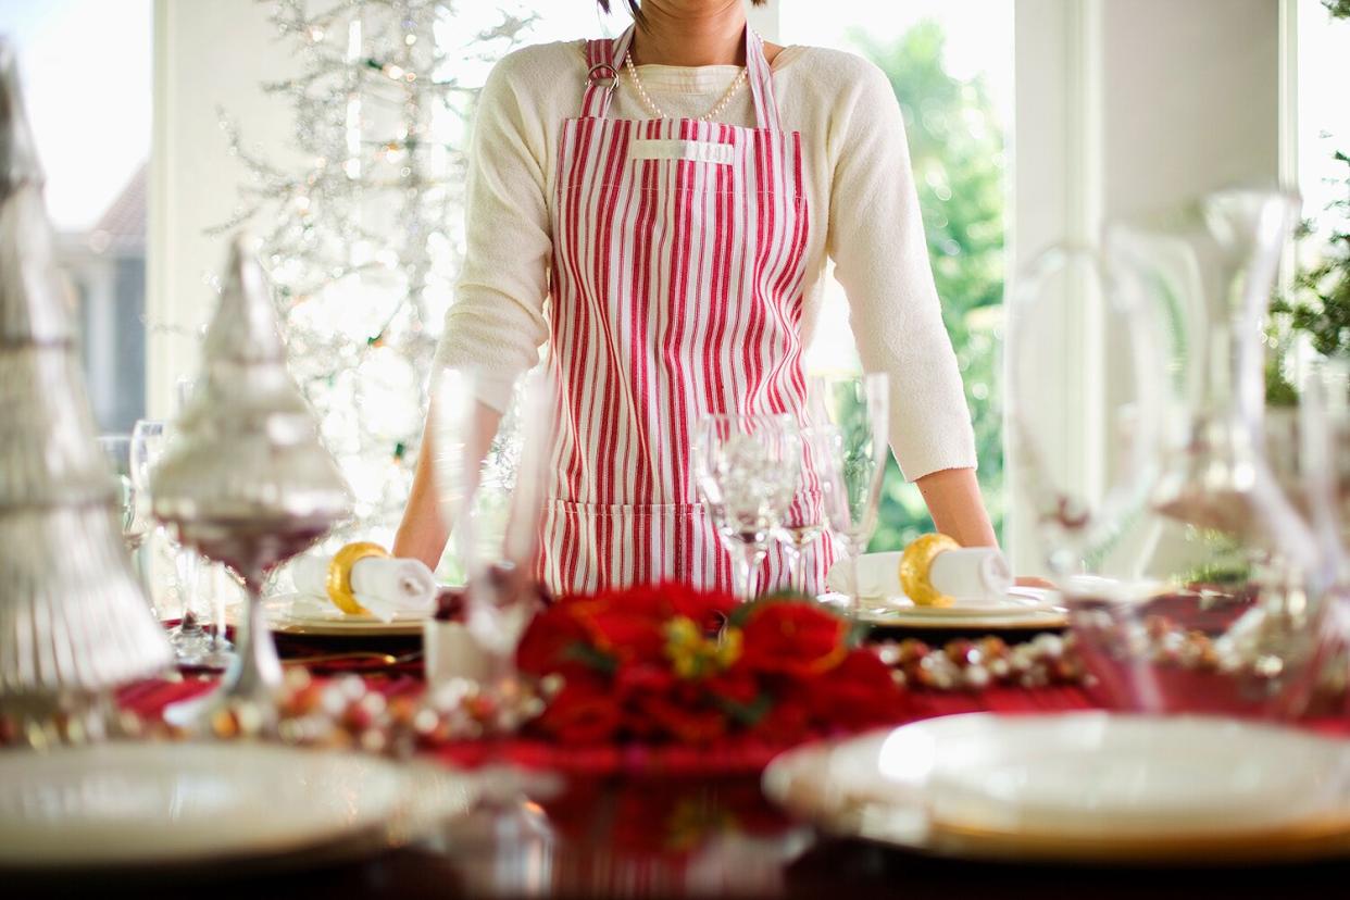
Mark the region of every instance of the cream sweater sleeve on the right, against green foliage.
<instances>
[{"instance_id":1,"label":"cream sweater sleeve on the right, against green foliage","mask_svg":"<svg viewBox=\"0 0 1350 900\"><path fill-rule=\"evenodd\" d=\"M890 440L909 480L973 468L975 434L933 285L905 121L867 65L830 128L826 251L849 302L863 368L890 382Z\"/></svg>"}]
</instances>

